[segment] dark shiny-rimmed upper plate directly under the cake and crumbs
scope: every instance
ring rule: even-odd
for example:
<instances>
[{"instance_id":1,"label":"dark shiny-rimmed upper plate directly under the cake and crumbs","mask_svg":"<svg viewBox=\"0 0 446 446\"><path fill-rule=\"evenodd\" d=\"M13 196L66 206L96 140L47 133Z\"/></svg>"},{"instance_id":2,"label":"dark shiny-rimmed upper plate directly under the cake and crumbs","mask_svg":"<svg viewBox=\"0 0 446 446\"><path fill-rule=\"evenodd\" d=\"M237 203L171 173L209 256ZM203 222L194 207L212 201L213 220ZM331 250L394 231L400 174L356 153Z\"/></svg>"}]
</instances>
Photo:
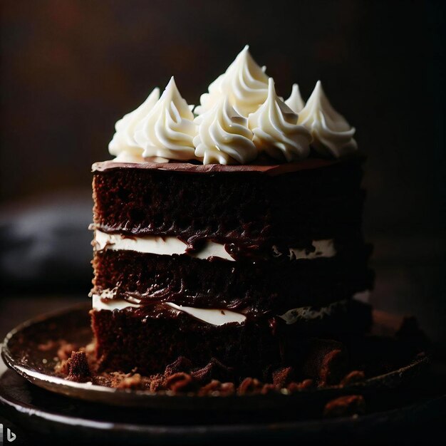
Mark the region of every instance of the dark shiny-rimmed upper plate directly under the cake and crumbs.
<instances>
[{"instance_id":1,"label":"dark shiny-rimmed upper plate directly under the cake and crumbs","mask_svg":"<svg viewBox=\"0 0 446 446\"><path fill-rule=\"evenodd\" d=\"M328 387L301 390L288 394L197 396L197 395L160 395L144 390L115 389L92 383L76 383L64 380L54 372L57 346L39 350L41 344L51 346L51 341L61 339L78 346L87 345L92 338L88 311L90 304L85 303L65 310L33 318L21 323L4 340L2 356L10 368L31 383L73 398L128 407L158 408L163 410L254 410L292 408L309 413L313 408L321 413L328 400L341 395L361 394L375 396L389 395L394 390L409 385L425 371L427 358L411 358L407 365L383 375L368 378L343 388ZM56 342L55 342L56 345Z\"/></svg>"}]
</instances>

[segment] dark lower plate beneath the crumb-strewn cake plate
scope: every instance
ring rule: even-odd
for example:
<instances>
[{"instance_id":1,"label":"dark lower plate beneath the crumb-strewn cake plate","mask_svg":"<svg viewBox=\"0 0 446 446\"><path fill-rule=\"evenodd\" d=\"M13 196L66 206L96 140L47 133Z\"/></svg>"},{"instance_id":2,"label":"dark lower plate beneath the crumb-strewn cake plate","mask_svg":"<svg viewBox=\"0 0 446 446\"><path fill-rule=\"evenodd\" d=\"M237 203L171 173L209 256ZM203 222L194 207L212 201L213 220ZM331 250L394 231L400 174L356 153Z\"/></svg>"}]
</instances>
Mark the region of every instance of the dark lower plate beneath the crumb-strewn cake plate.
<instances>
[{"instance_id":1,"label":"dark lower plate beneath the crumb-strewn cake plate","mask_svg":"<svg viewBox=\"0 0 446 446\"><path fill-rule=\"evenodd\" d=\"M440 445L446 400L432 397L423 394L398 408L330 420L295 420L282 410L260 409L232 418L229 412L206 418L193 408L172 416L68 399L7 370L0 377L0 413L3 406L9 420L0 416L0 422L20 445L425 445L427 432L428 443L437 439Z\"/></svg>"}]
</instances>

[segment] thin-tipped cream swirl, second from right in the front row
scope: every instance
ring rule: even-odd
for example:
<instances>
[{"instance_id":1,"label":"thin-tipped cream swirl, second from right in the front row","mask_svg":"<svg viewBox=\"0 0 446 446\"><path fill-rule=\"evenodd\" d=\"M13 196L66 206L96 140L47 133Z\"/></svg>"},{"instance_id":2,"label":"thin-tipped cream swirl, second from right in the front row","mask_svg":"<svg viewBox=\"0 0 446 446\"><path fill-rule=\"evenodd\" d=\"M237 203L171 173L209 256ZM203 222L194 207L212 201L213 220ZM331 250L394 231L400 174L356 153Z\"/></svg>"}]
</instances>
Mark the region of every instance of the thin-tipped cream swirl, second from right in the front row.
<instances>
[{"instance_id":1,"label":"thin-tipped cream swirl, second from right in the front row","mask_svg":"<svg viewBox=\"0 0 446 446\"><path fill-rule=\"evenodd\" d=\"M291 162L308 157L311 135L297 120L298 115L279 98L274 81L269 78L265 102L248 118L254 144L278 160Z\"/></svg>"}]
</instances>

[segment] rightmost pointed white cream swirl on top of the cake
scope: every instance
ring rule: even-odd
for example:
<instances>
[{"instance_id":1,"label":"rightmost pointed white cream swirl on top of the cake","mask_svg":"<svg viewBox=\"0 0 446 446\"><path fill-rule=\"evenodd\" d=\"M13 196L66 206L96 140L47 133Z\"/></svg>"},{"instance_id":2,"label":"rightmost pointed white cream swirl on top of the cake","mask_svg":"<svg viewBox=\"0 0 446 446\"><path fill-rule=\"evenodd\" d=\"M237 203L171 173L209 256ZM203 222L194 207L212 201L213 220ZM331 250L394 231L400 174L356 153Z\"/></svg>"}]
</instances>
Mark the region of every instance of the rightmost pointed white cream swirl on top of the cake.
<instances>
[{"instance_id":1,"label":"rightmost pointed white cream swirl on top of the cake","mask_svg":"<svg viewBox=\"0 0 446 446\"><path fill-rule=\"evenodd\" d=\"M322 155L338 158L358 148L353 139L355 128L333 109L323 92L321 81L316 83L304 109L299 113L299 124L311 132L311 145Z\"/></svg>"}]
</instances>

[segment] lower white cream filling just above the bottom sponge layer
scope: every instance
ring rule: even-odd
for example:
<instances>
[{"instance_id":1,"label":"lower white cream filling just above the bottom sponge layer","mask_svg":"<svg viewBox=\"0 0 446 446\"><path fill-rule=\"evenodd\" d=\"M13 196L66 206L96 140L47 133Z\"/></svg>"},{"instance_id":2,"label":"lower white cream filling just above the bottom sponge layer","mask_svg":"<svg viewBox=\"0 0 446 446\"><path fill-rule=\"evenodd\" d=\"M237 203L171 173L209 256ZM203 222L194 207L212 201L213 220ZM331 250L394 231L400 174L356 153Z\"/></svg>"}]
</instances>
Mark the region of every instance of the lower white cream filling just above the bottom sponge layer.
<instances>
[{"instance_id":1,"label":"lower white cream filling just above the bottom sponge layer","mask_svg":"<svg viewBox=\"0 0 446 446\"><path fill-rule=\"evenodd\" d=\"M104 297L104 294L98 296L97 294L93 294L93 308L95 310L123 310L123 308L127 308L129 306L138 308L140 305L138 304L130 304L130 302L125 301L123 299L113 299L111 301L103 302L101 297ZM181 306L177 304L173 304L172 302L165 302L166 305L174 308L177 311L183 311L184 313L190 314L200 321L211 323L212 325L221 326L225 323L242 323L247 318L241 313L236 313L235 311L222 310L222 309L214 309L214 308L194 308L192 306Z\"/></svg>"}]
</instances>

